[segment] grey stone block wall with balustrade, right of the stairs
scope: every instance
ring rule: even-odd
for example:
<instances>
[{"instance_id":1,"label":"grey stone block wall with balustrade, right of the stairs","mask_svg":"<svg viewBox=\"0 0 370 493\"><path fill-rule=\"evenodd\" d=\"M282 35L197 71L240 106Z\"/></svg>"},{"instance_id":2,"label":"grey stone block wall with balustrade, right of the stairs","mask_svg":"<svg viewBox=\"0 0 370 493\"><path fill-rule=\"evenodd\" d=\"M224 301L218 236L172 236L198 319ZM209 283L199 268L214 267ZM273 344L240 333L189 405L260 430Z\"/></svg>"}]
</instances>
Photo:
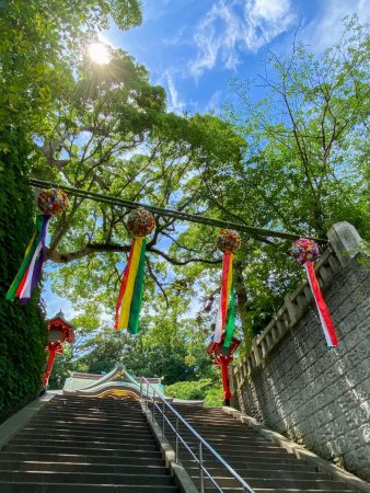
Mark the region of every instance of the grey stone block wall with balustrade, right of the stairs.
<instances>
[{"instance_id":1,"label":"grey stone block wall with balustrade, right of the stairs","mask_svg":"<svg viewBox=\"0 0 370 493\"><path fill-rule=\"evenodd\" d=\"M245 414L367 481L369 265L369 257L361 253L344 259L340 252L326 252L317 263L316 275L338 346L326 347L310 290L302 283L255 340L247 358L234 368L232 402Z\"/></svg>"}]
</instances>

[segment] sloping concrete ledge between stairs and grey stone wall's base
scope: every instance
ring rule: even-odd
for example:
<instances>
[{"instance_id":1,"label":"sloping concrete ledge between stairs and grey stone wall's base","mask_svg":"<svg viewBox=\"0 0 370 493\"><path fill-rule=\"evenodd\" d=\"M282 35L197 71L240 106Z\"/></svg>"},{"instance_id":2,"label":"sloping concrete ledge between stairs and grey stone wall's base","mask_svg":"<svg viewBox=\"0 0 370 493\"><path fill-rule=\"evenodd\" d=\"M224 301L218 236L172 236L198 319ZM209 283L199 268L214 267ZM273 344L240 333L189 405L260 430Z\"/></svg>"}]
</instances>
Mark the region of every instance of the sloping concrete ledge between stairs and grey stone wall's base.
<instances>
[{"instance_id":1,"label":"sloping concrete ledge between stairs and grey stone wall's base","mask_svg":"<svg viewBox=\"0 0 370 493\"><path fill-rule=\"evenodd\" d=\"M328 474L331 474L333 479L337 479L338 481L343 481L344 483L346 483L350 489L357 489L359 491L370 493L370 484L367 481L363 481L357 475L351 474L350 472L345 471L344 469L340 469L337 466L334 466L334 463L325 459L322 459L321 457L316 456L316 454L308 450L304 447L301 447L298 444L294 444L294 442L290 442L284 435L280 435L277 432L273 432L271 429L266 428L265 425L261 423L258 420L242 414L240 411L236 411L233 408L222 406L222 410L226 413L236 417L242 423L245 423L251 428L256 429L263 436L269 438L273 443L280 445L289 454L294 454L294 456L298 459L313 463L321 471L325 471Z\"/></svg>"}]
</instances>

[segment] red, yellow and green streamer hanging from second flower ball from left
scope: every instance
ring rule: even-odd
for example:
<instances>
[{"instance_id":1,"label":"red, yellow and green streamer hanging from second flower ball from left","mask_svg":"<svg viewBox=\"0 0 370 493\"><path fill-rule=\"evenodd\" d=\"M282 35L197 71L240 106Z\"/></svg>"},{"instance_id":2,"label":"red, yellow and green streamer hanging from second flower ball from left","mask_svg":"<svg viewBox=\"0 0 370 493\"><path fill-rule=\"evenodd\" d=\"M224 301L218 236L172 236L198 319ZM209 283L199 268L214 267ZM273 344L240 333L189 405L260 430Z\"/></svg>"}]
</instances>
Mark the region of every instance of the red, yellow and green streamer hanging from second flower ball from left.
<instances>
[{"instance_id":1,"label":"red, yellow and green streamer hanging from second flower ball from left","mask_svg":"<svg viewBox=\"0 0 370 493\"><path fill-rule=\"evenodd\" d=\"M139 332L142 287L146 271L147 242L134 239L116 305L115 329L127 329L130 334Z\"/></svg>"}]
</instances>

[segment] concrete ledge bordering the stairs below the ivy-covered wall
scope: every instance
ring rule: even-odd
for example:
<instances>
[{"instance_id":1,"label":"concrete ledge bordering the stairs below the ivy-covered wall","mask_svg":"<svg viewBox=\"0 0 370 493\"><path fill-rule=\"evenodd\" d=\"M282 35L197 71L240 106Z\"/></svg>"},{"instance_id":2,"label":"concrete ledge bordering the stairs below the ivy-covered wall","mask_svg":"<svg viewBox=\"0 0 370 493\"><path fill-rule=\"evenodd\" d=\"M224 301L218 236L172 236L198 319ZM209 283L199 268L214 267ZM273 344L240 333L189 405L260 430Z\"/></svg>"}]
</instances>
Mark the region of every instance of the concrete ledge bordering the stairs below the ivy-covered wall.
<instances>
[{"instance_id":1,"label":"concrete ledge bordering the stairs below the ivy-covered wall","mask_svg":"<svg viewBox=\"0 0 370 493\"><path fill-rule=\"evenodd\" d=\"M55 395L55 393L45 393L2 423L0 426L0 450L2 450L13 436L23 429L28 421L31 421L31 419Z\"/></svg>"}]
</instances>

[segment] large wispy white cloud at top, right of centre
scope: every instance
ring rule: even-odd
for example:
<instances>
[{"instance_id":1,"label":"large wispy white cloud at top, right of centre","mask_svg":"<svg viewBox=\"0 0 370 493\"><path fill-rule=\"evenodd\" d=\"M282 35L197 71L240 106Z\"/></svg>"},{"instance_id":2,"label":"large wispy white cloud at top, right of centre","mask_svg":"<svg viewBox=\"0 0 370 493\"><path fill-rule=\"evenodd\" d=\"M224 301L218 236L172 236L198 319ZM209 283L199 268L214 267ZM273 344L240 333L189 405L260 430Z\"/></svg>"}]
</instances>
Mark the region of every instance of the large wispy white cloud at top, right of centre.
<instances>
[{"instance_id":1,"label":"large wispy white cloud at top, right of centre","mask_svg":"<svg viewBox=\"0 0 370 493\"><path fill-rule=\"evenodd\" d=\"M242 51L257 51L294 19L290 0L218 0L194 34L198 54L190 73L198 78L216 62L234 69Z\"/></svg>"}]
</instances>

